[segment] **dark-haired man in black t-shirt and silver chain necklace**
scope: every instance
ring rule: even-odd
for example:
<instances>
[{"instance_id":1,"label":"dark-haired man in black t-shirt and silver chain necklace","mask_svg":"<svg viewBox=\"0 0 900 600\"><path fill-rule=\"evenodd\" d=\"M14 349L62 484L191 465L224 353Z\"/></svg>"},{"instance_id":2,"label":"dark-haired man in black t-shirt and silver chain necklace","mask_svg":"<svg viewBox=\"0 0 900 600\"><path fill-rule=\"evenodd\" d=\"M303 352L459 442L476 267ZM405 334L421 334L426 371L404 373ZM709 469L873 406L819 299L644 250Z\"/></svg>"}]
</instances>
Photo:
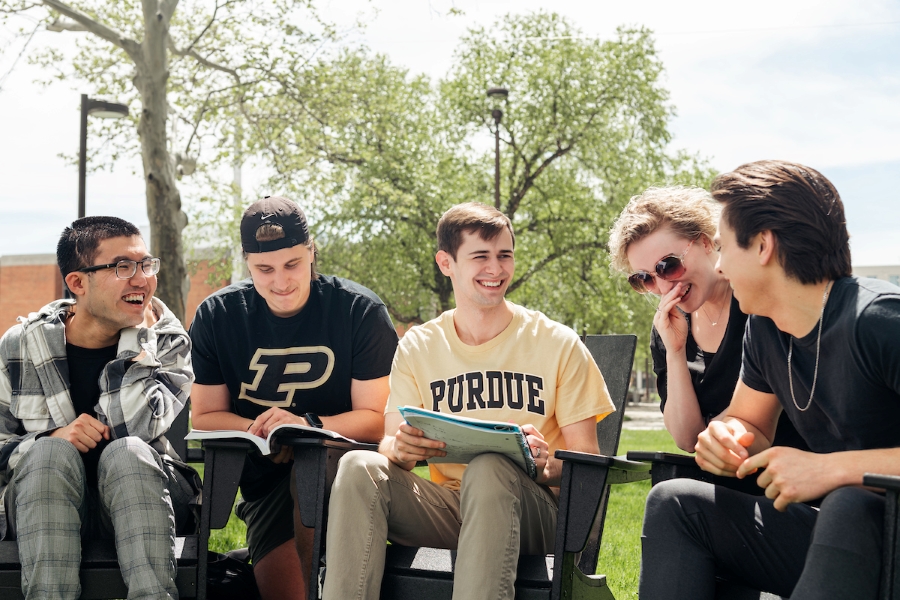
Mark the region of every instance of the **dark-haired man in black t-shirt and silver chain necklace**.
<instances>
[{"instance_id":1,"label":"dark-haired man in black t-shirt and silver chain necklace","mask_svg":"<svg viewBox=\"0 0 900 600\"><path fill-rule=\"evenodd\" d=\"M640 596L712 599L724 576L792 600L874 599L884 497L861 486L866 472L900 475L900 288L850 275L844 208L817 171L750 163L712 194L717 268L751 316L737 389L696 459L717 475L759 472L766 497L655 486ZM809 452L772 446L782 411Z\"/></svg>"}]
</instances>

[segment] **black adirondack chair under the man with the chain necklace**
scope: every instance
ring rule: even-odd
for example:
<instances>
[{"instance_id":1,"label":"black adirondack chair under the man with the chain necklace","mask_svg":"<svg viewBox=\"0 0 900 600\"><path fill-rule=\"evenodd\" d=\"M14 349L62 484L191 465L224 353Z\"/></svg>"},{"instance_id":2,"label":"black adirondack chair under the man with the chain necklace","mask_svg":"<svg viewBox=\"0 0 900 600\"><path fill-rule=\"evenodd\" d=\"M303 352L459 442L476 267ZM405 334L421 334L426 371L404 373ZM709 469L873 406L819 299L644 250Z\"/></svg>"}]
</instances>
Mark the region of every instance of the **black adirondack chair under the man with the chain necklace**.
<instances>
[{"instance_id":1,"label":"black adirondack chair under the man with the chain necklace","mask_svg":"<svg viewBox=\"0 0 900 600\"><path fill-rule=\"evenodd\" d=\"M735 479L717 477L697 466L694 457L688 454L669 452L631 451L628 459L651 465L651 483L687 477L707 483L739 487ZM900 600L900 477L892 475L866 474L863 483L885 490L884 545L881 565L879 600ZM787 600L764 590L753 589L738 583L719 579L716 582L717 600Z\"/></svg>"}]
</instances>

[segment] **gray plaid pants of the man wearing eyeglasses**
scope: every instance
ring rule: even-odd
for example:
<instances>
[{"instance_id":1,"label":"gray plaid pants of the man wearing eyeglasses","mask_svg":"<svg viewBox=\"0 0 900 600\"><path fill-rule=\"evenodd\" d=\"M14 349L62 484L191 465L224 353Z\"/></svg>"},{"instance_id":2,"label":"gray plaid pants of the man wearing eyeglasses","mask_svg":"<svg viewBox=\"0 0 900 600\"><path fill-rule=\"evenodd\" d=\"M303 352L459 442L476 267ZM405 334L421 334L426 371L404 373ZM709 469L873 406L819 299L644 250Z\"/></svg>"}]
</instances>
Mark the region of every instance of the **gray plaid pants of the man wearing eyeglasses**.
<instances>
[{"instance_id":1,"label":"gray plaid pants of the man wearing eyeglasses","mask_svg":"<svg viewBox=\"0 0 900 600\"><path fill-rule=\"evenodd\" d=\"M175 522L186 520L192 489L138 438L103 450L96 489L70 442L39 439L22 457L7 488L18 538L26 598L78 598L82 535L115 539L128 598L178 598ZM173 507L174 505L174 507Z\"/></svg>"}]
</instances>

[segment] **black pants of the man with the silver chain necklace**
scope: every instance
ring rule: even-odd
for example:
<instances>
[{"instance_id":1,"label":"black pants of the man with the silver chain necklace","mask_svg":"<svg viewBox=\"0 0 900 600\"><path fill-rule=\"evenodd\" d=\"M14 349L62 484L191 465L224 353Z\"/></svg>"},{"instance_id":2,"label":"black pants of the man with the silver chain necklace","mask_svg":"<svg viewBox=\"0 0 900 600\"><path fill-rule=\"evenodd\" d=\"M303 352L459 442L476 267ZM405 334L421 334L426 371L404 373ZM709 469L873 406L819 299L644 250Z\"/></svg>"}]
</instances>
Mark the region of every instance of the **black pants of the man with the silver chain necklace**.
<instances>
[{"instance_id":1,"label":"black pants of the man with the silver chain necklace","mask_svg":"<svg viewBox=\"0 0 900 600\"><path fill-rule=\"evenodd\" d=\"M791 600L876 598L884 497L840 488L821 508L672 479L647 497L641 600L715 597L715 577Z\"/></svg>"}]
</instances>

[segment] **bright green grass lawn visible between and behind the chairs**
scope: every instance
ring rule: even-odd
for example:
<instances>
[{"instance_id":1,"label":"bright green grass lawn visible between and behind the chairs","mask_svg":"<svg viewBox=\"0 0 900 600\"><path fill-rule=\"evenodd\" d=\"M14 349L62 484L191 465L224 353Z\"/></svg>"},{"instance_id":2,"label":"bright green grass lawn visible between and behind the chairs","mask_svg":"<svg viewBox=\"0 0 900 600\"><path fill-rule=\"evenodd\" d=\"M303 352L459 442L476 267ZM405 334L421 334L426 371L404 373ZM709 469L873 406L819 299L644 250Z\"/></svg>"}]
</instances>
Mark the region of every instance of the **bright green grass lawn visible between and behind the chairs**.
<instances>
[{"instance_id":1,"label":"bright green grass lawn visible between and behind the chairs","mask_svg":"<svg viewBox=\"0 0 900 600\"><path fill-rule=\"evenodd\" d=\"M666 431L622 431L619 454L628 450L662 450L679 452ZM203 475L203 468L200 467ZM417 468L421 476L427 476L427 468ZM598 573L605 573L607 582L618 600L637 598L638 576L641 564L641 522L644 518L644 500L650 491L649 481L639 481L615 486L610 494L600 549ZM244 523L234 514L224 529L214 530L209 539L209 549L227 552L246 545Z\"/></svg>"}]
</instances>

